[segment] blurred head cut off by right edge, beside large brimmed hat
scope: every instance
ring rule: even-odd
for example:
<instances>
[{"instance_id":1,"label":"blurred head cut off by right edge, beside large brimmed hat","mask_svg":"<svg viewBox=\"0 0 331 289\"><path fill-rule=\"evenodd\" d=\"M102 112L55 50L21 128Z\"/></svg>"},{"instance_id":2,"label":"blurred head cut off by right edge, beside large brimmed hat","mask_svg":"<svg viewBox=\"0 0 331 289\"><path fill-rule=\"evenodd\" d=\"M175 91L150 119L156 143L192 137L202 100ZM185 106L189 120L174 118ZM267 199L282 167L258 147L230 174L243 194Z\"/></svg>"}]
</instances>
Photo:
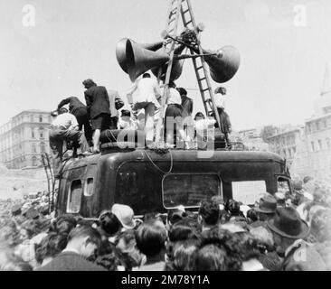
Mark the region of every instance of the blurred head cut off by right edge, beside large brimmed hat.
<instances>
[{"instance_id":1,"label":"blurred head cut off by right edge, beside large brimmed hat","mask_svg":"<svg viewBox=\"0 0 331 289\"><path fill-rule=\"evenodd\" d=\"M309 237L307 240L311 243L323 243L331 241L331 210L317 210L310 222Z\"/></svg>"}]
</instances>

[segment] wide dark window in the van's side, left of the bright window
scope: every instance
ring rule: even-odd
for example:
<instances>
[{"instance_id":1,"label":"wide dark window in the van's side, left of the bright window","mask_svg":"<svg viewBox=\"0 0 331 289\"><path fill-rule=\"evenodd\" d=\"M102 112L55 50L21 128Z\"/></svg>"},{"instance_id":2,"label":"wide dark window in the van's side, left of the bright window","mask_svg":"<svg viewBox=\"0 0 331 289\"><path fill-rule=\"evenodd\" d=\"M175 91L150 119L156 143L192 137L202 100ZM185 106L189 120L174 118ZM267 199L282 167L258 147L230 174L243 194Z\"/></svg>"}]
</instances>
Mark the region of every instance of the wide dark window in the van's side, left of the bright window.
<instances>
[{"instance_id":1,"label":"wide dark window in the van's side, left of the bright window","mask_svg":"<svg viewBox=\"0 0 331 289\"><path fill-rule=\"evenodd\" d=\"M222 182L217 174L168 174L162 182L165 209L179 205L197 207L221 193Z\"/></svg>"}]
</instances>

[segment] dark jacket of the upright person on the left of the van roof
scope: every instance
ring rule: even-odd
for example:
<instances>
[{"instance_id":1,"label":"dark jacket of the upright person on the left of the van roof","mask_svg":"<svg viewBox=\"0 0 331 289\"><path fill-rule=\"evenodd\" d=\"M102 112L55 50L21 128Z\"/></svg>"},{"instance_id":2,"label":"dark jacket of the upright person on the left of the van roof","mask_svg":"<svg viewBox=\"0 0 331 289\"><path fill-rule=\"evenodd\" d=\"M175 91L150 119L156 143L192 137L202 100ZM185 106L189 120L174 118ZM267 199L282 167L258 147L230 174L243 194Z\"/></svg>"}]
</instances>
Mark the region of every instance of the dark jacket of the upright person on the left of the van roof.
<instances>
[{"instance_id":1,"label":"dark jacket of the upright person on the left of the van roof","mask_svg":"<svg viewBox=\"0 0 331 289\"><path fill-rule=\"evenodd\" d=\"M84 92L90 118L100 114L110 115L109 95L105 87L94 86Z\"/></svg>"}]
</instances>

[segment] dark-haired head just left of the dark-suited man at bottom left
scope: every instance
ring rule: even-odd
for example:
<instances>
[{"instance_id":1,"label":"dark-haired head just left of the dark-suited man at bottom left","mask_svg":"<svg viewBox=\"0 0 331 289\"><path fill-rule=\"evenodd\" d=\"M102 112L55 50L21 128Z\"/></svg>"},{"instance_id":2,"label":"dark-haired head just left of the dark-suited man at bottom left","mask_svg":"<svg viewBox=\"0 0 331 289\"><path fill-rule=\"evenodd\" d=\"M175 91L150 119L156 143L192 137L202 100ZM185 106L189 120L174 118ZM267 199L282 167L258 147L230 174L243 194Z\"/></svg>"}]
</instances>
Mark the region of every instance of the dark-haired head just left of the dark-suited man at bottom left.
<instances>
[{"instance_id":1,"label":"dark-haired head just left of the dark-suited man at bottom left","mask_svg":"<svg viewBox=\"0 0 331 289\"><path fill-rule=\"evenodd\" d=\"M52 258L58 256L67 246L67 238L68 235L63 233L48 233L35 250L36 261L42 266L52 261Z\"/></svg>"}]
</instances>

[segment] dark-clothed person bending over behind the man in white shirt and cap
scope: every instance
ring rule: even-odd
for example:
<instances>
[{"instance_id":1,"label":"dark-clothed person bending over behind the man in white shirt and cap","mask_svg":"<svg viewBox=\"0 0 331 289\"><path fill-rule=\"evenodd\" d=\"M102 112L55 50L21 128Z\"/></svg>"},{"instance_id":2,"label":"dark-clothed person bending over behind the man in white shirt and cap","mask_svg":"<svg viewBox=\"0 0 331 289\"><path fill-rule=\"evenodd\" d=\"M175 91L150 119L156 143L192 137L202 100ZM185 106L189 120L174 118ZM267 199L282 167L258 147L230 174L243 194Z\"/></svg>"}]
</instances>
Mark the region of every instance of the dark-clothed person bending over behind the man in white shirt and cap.
<instances>
[{"instance_id":1,"label":"dark-clothed person bending over behind the man in white shirt and cap","mask_svg":"<svg viewBox=\"0 0 331 289\"><path fill-rule=\"evenodd\" d=\"M86 106L79 98L69 97L61 100L58 105L58 110L67 104L69 104L69 112L71 115L77 118L79 130L81 131L84 126L84 135L90 146L92 146L92 128L90 127L90 117Z\"/></svg>"}]
</instances>

